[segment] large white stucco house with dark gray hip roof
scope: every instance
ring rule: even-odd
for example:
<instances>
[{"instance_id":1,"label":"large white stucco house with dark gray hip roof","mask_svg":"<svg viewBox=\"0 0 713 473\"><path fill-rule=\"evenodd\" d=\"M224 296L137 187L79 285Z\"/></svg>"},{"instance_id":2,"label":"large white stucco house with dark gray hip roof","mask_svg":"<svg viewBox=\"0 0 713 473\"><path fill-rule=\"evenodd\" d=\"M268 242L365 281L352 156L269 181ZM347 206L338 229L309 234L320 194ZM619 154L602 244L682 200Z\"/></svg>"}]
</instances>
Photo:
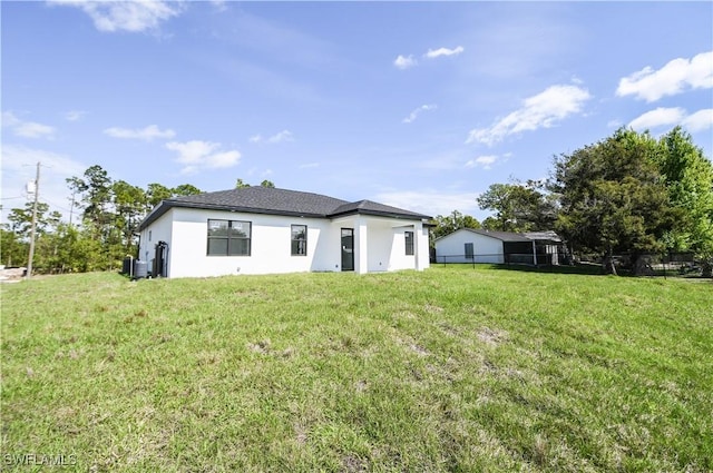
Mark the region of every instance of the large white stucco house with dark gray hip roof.
<instances>
[{"instance_id":1,"label":"large white stucco house with dark gray hip roof","mask_svg":"<svg viewBox=\"0 0 713 473\"><path fill-rule=\"evenodd\" d=\"M137 257L154 277L422 270L429 219L370 200L245 187L163 200L139 225Z\"/></svg>"}]
</instances>

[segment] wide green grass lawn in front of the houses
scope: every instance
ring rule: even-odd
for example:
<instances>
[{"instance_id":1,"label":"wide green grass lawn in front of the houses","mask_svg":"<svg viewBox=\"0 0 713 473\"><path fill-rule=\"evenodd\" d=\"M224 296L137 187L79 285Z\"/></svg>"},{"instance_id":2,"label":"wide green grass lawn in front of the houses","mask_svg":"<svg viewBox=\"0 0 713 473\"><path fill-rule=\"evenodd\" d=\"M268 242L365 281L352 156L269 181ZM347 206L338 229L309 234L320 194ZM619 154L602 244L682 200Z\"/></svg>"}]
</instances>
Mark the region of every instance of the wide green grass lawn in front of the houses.
<instances>
[{"instance_id":1,"label":"wide green grass lawn in front of the houses","mask_svg":"<svg viewBox=\"0 0 713 473\"><path fill-rule=\"evenodd\" d=\"M710 283L466 265L1 290L3 469L713 470Z\"/></svg>"}]
</instances>

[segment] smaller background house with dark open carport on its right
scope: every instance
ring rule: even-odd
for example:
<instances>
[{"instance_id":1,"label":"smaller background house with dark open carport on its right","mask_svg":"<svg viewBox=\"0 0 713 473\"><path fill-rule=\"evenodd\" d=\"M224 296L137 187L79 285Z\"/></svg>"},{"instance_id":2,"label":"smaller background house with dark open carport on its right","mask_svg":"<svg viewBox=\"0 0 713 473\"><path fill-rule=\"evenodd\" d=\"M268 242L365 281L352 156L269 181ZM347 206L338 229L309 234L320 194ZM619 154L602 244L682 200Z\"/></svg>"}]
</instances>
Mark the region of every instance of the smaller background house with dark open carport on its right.
<instances>
[{"instance_id":1,"label":"smaller background house with dark open carport on its right","mask_svg":"<svg viewBox=\"0 0 713 473\"><path fill-rule=\"evenodd\" d=\"M434 242L437 263L558 264L554 231L517 234L460 228Z\"/></svg>"}]
</instances>

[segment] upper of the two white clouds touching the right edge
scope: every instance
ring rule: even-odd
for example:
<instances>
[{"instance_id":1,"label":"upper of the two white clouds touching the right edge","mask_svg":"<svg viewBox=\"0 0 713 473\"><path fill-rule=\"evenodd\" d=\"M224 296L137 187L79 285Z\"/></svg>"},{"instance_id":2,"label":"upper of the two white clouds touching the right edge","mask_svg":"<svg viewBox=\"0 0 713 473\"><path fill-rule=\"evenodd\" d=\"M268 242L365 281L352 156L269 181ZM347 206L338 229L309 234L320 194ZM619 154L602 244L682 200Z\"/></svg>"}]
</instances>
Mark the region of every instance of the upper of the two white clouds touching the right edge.
<instances>
[{"instance_id":1,"label":"upper of the two white clouds touching the right edge","mask_svg":"<svg viewBox=\"0 0 713 473\"><path fill-rule=\"evenodd\" d=\"M713 51L702 52L692 59L676 58L663 68L649 66L619 80L616 95L635 96L647 102L665 96L674 96L686 89L713 88Z\"/></svg>"}]
</instances>

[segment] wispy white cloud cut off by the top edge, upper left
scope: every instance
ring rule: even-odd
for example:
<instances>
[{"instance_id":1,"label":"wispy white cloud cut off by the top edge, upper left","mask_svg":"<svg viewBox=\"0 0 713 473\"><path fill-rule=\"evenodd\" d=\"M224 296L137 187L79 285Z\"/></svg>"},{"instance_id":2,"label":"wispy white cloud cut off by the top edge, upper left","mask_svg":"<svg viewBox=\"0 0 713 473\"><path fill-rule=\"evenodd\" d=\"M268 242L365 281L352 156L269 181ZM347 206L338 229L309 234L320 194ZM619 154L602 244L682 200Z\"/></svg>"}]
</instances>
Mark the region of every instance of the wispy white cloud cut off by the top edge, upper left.
<instances>
[{"instance_id":1,"label":"wispy white cloud cut off by the top edge, upper left","mask_svg":"<svg viewBox=\"0 0 713 473\"><path fill-rule=\"evenodd\" d=\"M51 0L50 4L76 7L87 13L99 31L140 32L154 30L182 11L179 2L169 1L85 1Z\"/></svg>"}]
</instances>

